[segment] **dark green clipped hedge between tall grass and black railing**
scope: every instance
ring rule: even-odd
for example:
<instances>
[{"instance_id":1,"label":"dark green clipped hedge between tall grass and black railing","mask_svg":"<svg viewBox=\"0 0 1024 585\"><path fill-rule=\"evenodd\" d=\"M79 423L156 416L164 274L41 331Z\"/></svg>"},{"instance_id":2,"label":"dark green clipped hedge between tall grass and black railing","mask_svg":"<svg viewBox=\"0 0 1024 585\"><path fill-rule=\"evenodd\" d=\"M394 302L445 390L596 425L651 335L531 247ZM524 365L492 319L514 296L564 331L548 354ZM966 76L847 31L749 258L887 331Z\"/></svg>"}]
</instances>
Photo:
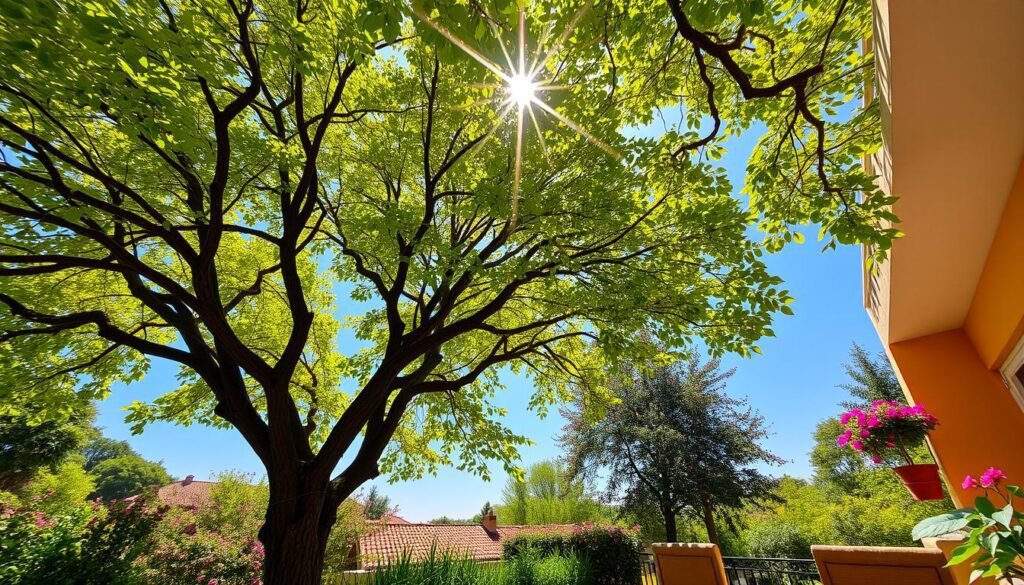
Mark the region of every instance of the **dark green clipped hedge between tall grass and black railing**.
<instances>
[{"instance_id":1,"label":"dark green clipped hedge between tall grass and black railing","mask_svg":"<svg viewBox=\"0 0 1024 585\"><path fill-rule=\"evenodd\" d=\"M636 531L598 526L528 532L506 539L502 544L506 560L526 551L541 556L579 555L589 561L593 581L599 585L640 583L641 550Z\"/></svg>"}]
</instances>

